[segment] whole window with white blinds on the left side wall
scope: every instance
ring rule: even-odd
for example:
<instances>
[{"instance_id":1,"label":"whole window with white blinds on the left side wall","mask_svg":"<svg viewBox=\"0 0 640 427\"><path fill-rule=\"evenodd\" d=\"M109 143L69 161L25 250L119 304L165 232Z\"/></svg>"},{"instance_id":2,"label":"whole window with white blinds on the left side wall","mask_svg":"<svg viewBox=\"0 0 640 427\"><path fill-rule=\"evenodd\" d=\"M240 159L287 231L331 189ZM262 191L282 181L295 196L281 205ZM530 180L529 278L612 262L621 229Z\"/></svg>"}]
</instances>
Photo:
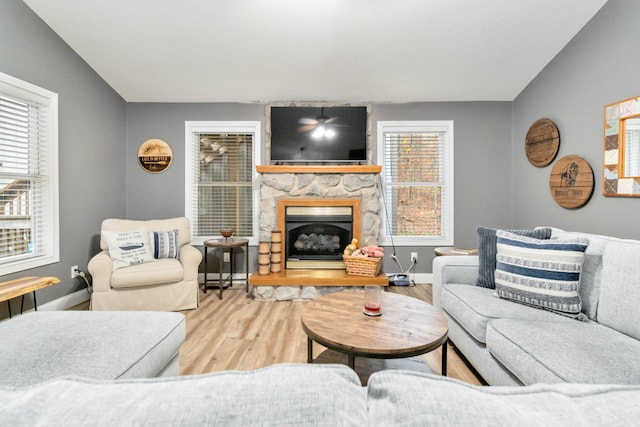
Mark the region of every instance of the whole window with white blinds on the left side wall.
<instances>
[{"instance_id":1,"label":"whole window with white blinds on the left side wall","mask_svg":"<svg viewBox=\"0 0 640 427\"><path fill-rule=\"evenodd\" d=\"M0 275L58 262L58 95L0 73Z\"/></svg>"}]
</instances>

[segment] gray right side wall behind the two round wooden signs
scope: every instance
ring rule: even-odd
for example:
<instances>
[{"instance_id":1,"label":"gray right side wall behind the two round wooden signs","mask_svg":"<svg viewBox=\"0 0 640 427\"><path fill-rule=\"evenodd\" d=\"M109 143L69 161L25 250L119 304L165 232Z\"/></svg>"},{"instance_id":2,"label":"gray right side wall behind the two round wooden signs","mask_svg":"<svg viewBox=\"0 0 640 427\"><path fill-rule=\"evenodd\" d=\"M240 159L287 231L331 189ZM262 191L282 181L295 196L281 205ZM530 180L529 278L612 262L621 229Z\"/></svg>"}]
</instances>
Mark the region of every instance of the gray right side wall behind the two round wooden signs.
<instances>
[{"instance_id":1,"label":"gray right side wall behind the two round wooden signs","mask_svg":"<svg viewBox=\"0 0 640 427\"><path fill-rule=\"evenodd\" d=\"M610 0L513 102L515 225L640 238L640 199L602 196L604 106L640 95L638 34L640 2ZM526 133L541 117L560 131L556 159L577 154L593 169L594 194L582 208L557 205L549 191L552 165L536 168L527 160Z\"/></svg>"}]
</instances>

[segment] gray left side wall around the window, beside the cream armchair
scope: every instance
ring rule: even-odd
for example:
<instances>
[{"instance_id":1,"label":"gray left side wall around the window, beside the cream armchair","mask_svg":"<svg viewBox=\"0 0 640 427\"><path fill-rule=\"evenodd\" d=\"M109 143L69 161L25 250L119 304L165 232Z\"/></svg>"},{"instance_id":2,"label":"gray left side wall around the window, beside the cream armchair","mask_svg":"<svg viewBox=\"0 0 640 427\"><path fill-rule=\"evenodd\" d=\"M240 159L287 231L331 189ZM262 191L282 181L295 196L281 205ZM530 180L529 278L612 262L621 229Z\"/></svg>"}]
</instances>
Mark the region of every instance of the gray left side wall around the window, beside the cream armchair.
<instances>
[{"instance_id":1,"label":"gray left side wall around the window, beside the cream armchair","mask_svg":"<svg viewBox=\"0 0 640 427\"><path fill-rule=\"evenodd\" d=\"M86 271L102 219L125 214L126 104L19 0L0 2L0 71L59 97L60 262L0 278L59 277L60 284L38 291L41 304L82 287L71 266ZM4 317L6 304L0 310Z\"/></svg>"}]
</instances>

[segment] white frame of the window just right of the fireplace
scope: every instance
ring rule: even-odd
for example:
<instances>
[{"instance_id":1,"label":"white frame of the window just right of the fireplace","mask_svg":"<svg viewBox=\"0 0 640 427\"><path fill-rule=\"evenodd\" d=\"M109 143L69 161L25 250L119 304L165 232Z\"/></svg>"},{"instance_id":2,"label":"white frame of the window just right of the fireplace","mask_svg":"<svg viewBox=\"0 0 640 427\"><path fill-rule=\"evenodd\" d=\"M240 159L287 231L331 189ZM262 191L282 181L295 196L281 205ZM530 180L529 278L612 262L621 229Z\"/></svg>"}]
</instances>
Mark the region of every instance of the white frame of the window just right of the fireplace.
<instances>
[{"instance_id":1,"label":"white frame of the window just right of the fireplace","mask_svg":"<svg viewBox=\"0 0 640 427\"><path fill-rule=\"evenodd\" d=\"M399 236L390 235L390 227L388 216L391 216L387 206L390 199L387 199L386 182L390 182L389 167L386 162L386 133L429 133L429 132L445 132L447 140L444 147L444 171L443 182L446 183L447 189L442 200L442 206L446 206L446 218L442 221L442 236ZM376 159L377 163L382 166L380 175L380 204L383 209L380 210L380 243L382 245L395 246L452 246L454 242L454 121L453 120L394 120L394 121L378 121L377 123L377 142L376 142Z\"/></svg>"}]
</instances>

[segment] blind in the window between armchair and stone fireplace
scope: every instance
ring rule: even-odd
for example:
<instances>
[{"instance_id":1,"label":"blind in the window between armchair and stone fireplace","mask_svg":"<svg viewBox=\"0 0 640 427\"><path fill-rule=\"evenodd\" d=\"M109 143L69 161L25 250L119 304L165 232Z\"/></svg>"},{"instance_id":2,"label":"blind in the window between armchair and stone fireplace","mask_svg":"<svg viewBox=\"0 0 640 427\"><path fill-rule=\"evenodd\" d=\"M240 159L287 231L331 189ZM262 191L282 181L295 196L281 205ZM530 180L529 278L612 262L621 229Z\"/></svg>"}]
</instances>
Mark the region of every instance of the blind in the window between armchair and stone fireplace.
<instances>
[{"instance_id":1,"label":"blind in the window between armchair and stone fireplace","mask_svg":"<svg viewBox=\"0 0 640 427\"><path fill-rule=\"evenodd\" d=\"M233 228L235 236L253 234L253 144L250 133L195 132L192 227L200 237L218 237Z\"/></svg>"}]
</instances>

